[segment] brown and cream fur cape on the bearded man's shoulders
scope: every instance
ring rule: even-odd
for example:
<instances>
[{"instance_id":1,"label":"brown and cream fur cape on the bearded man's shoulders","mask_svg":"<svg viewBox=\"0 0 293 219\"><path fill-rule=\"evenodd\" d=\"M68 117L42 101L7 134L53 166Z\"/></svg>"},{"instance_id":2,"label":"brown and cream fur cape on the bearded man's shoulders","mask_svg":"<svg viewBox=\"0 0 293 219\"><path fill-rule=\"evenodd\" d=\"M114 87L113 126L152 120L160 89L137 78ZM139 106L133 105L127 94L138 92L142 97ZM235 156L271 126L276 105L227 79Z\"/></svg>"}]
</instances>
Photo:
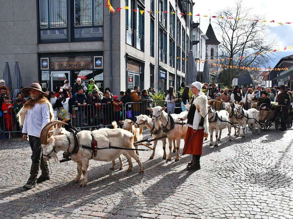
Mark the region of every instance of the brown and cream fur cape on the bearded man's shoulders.
<instances>
[{"instance_id":1,"label":"brown and cream fur cape on the bearded man's shoulders","mask_svg":"<svg viewBox=\"0 0 293 219\"><path fill-rule=\"evenodd\" d=\"M21 108L21 110L19 110L18 114L16 115L16 118L19 120L19 125L23 126L23 122L25 119L25 115L26 115L26 111L28 109L31 109L35 106L36 103L42 104L42 103L46 103L48 104L49 110L50 110L50 121L53 121L55 119L54 117L54 113L53 113L53 108L51 103L49 102L49 100L45 97L39 98L37 100L28 100L28 102L26 102L23 107Z\"/></svg>"}]
</instances>

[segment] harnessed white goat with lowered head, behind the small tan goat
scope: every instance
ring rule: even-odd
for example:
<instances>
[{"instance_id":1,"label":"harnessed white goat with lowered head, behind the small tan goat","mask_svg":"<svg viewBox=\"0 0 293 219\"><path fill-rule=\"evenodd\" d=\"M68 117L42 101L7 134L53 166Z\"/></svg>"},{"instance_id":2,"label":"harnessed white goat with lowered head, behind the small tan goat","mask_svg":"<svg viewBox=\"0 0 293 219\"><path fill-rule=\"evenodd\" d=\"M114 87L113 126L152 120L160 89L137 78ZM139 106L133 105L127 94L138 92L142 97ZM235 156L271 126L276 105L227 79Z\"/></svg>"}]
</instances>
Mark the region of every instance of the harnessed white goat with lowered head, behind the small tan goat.
<instances>
[{"instance_id":1,"label":"harnessed white goat with lowered head, behind the small tan goat","mask_svg":"<svg viewBox=\"0 0 293 219\"><path fill-rule=\"evenodd\" d=\"M147 115L139 115L137 117L137 121L134 123L135 128L140 128L143 126L147 127L147 129L149 129L151 131L151 136L153 138L160 138L160 137L163 137L164 135L166 135L166 133L163 133L163 131L161 129L161 125L162 124L160 121L153 123L151 121L151 118L148 117ZM163 159L165 160L167 157L167 155L166 155L166 138L161 138L160 140L163 142L163 150L164 150ZM154 146L153 146L153 153L151 154L151 157L149 159L154 158L157 143L158 143L158 140L155 140Z\"/></svg>"}]
</instances>

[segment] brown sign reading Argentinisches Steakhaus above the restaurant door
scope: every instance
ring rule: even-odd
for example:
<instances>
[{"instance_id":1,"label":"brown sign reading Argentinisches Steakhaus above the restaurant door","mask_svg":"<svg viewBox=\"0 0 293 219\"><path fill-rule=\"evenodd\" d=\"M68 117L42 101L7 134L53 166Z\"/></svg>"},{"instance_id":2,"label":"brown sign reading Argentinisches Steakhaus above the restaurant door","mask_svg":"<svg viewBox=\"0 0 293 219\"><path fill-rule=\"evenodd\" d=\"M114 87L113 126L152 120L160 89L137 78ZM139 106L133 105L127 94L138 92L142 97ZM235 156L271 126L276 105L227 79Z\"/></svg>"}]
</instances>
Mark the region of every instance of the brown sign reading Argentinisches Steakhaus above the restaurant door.
<instances>
[{"instance_id":1,"label":"brown sign reading Argentinisches Steakhaus above the restaurant door","mask_svg":"<svg viewBox=\"0 0 293 219\"><path fill-rule=\"evenodd\" d=\"M50 58L50 69L91 69L93 67L93 57L57 57Z\"/></svg>"}]
</instances>

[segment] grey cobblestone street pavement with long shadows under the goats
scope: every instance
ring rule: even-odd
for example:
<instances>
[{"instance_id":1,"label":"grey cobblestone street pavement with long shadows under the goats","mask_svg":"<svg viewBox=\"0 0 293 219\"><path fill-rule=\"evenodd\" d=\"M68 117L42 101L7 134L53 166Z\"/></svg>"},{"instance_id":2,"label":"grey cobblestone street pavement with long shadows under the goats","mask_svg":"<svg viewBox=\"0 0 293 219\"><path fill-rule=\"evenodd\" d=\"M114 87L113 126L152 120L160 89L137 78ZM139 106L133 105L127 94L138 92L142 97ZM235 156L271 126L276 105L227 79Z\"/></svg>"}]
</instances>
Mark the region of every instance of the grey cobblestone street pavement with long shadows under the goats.
<instances>
[{"instance_id":1,"label":"grey cobblestone street pavement with long shadows under the goats","mask_svg":"<svg viewBox=\"0 0 293 219\"><path fill-rule=\"evenodd\" d=\"M135 161L126 172L125 158L121 171L90 161L89 182L80 188L72 183L74 162L51 161L51 180L28 191L28 142L1 141L0 218L293 218L293 130L248 130L231 142L226 136L219 147L205 142L198 171L186 170L190 155L162 160L159 143L153 160L140 152L144 174Z\"/></svg>"}]
</instances>

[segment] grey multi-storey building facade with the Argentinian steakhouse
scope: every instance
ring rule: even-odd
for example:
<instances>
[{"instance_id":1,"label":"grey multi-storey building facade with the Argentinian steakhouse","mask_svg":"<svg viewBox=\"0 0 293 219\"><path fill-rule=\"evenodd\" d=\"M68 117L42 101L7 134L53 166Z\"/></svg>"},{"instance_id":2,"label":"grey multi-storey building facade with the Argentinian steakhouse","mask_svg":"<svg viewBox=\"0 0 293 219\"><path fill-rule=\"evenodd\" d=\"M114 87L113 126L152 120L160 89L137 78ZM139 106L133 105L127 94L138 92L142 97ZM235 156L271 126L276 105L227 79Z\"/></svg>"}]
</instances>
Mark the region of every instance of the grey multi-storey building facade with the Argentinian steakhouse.
<instances>
[{"instance_id":1,"label":"grey multi-storey building facade with the Argentinian steakhouse","mask_svg":"<svg viewBox=\"0 0 293 219\"><path fill-rule=\"evenodd\" d=\"M93 78L101 91L109 87L115 94L135 85L162 92L178 88L192 48L192 16L186 14L192 14L193 2L111 4L115 14L102 0L4 1L0 68L8 61L13 81L12 63L18 61L23 86L38 80L53 91L65 79L73 86L77 77L85 86Z\"/></svg>"}]
</instances>

